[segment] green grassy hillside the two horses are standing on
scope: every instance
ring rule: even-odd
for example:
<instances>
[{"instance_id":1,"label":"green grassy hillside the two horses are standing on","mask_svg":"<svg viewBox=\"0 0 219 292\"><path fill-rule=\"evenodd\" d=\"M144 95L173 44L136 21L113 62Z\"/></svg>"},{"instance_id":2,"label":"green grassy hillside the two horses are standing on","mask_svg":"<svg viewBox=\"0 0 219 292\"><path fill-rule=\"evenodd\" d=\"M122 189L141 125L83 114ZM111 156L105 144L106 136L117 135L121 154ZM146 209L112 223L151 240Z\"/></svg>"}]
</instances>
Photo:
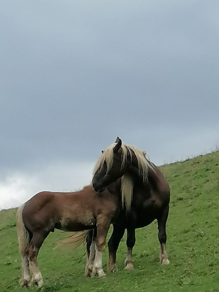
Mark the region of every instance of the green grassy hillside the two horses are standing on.
<instances>
[{"instance_id":1,"label":"green grassy hillside the two horses are standing on","mask_svg":"<svg viewBox=\"0 0 219 292\"><path fill-rule=\"evenodd\" d=\"M39 252L38 264L44 277L40 291L219 291L218 162L219 152L213 152L161 166L171 187L167 221L170 265L159 265L157 222L154 222L136 232L134 271L124 270L125 234L117 256L119 272L107 273L105 279L87 279L84 277L85 247L73 252L54 250L55 242L66 235L56 230ZM26 291L18 286L20 256L15 213L13 209L0 212L0 291ZM106 250L105 271L107 257Z\"/></svg>"}]
</instances>

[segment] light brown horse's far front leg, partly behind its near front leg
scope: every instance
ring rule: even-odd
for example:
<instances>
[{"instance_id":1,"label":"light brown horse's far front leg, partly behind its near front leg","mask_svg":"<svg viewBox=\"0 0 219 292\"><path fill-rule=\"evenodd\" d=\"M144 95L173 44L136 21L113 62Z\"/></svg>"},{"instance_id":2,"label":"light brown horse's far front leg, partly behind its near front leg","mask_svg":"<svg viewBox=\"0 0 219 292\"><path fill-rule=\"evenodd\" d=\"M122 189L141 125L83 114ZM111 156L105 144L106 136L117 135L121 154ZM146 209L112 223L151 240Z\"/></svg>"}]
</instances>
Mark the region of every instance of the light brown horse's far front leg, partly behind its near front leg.
<instances>
[{"instance_id":1,"label":"light brown horse's far front leg, partly behind its near front leg","mask_svg":"<svg viewBox=\"0 0 219 292\"><path fill-rule=\"evenodd\" d=\"M85 276L91 276L93 270L93 263L95 259L96 241L97 241L97 229L91 230L87 235L87 263L85 268Z\"/></svg>"}]
</instances>

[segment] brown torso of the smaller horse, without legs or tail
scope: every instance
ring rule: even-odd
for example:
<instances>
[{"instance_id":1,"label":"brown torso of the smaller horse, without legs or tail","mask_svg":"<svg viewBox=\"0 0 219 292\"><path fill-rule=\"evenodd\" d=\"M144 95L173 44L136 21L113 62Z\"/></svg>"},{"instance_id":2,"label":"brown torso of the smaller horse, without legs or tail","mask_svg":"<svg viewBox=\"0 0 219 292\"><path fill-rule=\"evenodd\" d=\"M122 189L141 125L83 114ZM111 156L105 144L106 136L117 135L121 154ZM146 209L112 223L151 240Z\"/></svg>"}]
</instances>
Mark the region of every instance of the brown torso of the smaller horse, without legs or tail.
<instances>
[{"instance_id":1,"label":"brown torso of the smaller horse, without legs or tail","mask_svg":"<svg viewBox=\"0 0 219 292\"><path fill-rule=\"evenodd\" d=\"M114 213L116 202L106 190L97 196L92 186L78 192L40 192L26 202L23 220L32 230L51 231L54 228L77 231L91 228L98 212Z\"/></svg>"}]
</instances>

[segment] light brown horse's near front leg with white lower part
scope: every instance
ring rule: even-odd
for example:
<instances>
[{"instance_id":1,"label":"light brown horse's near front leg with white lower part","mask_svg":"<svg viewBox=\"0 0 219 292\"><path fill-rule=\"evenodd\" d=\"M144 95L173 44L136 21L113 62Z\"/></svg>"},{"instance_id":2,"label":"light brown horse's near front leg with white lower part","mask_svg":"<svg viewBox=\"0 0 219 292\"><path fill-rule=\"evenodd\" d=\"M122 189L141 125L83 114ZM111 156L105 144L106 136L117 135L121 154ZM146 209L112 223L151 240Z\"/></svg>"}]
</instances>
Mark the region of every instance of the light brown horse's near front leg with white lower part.
<instances>
[{"instance_id":1,"label":"light brown horse's near front leg with white lower part","mask_svg":"<svg viewBox=\"0 0 219 292\"><path fill-rule=\"evenodd\" d=\"M110 219L111 218L105 217L102 214L97 218L97 245L91 274L92 277L97 276L98 278L102 278L106 276L102 267L102 255L105 249L107 232L111 221Z\"/></svg>"}]
</instances>

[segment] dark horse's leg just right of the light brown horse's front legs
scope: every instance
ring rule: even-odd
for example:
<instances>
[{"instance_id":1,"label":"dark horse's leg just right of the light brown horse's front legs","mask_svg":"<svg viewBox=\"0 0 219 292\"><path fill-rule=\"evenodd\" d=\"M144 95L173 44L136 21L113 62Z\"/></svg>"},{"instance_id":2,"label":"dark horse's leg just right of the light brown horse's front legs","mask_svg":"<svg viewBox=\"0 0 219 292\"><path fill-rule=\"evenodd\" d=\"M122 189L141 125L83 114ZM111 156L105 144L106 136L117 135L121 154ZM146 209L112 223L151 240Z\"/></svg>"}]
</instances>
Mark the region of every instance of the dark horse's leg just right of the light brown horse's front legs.
<instances>
[{"instance_id":1,"label":"dark horse's leg just right of the light brown horse's front legs","mask_svg":"<svg viewBox=\"0 0 219 292\"><path fill-rule=\"evenodd\" d=\"M108 260L108 272L116 272L117 261L116 261L116 252L119 247L119 242L121 241L125 232L125 228L113 225L113 232L108 242L109 249L109 260Z\"/></svg>"}]
</instances>

